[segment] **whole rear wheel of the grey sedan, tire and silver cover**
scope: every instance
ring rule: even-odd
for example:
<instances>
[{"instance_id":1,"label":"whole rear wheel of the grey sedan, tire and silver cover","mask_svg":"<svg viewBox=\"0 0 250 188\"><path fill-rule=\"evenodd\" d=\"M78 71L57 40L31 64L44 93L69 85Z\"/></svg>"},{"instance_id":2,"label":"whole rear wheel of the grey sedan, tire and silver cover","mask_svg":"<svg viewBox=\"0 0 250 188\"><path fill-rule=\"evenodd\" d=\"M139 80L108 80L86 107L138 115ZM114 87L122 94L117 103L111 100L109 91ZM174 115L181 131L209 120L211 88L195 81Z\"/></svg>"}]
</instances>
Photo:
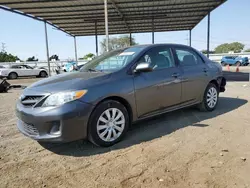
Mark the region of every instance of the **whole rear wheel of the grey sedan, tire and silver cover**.
<instances>
[{"instance_id":1,"label":"whole rear wheel of the grey sedan, tire and silver cover","mask_svg":"<svg viewBox=\"0 0 250 188\"><path fill-rule=\"evenodd\" d=\"M209 94L210 96L212 96L212 98L210 97L210 100L209 100ZM213 111L217 107L218 100L219 100L219 90L217 86L213 83L209 83L204 92L203 100L199 104L200 111L203 111L203 112Z\"/></svg>"}]
</instances>

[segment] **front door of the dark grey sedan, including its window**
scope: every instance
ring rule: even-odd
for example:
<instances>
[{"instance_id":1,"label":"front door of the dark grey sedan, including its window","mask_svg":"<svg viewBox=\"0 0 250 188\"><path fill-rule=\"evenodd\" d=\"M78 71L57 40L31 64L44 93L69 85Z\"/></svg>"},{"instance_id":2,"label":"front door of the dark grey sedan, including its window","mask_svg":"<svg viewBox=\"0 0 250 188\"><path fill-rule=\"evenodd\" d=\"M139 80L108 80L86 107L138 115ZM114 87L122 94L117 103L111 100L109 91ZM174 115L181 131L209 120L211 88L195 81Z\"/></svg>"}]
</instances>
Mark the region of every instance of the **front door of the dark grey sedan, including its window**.
<instances>
[{"instance_id":1,"label":"front door of the dark grey sedan, including its window","mask_svg":"<svg viewBox=\"0 0 250 188\"><path fill-rule=\"evenodd\" d=\"M181 102L181 71L176 67L172 50L167 46L154 47L138 61L148 62L152 72L134 75L138 117Z\"/></svg>"}]
</instances>

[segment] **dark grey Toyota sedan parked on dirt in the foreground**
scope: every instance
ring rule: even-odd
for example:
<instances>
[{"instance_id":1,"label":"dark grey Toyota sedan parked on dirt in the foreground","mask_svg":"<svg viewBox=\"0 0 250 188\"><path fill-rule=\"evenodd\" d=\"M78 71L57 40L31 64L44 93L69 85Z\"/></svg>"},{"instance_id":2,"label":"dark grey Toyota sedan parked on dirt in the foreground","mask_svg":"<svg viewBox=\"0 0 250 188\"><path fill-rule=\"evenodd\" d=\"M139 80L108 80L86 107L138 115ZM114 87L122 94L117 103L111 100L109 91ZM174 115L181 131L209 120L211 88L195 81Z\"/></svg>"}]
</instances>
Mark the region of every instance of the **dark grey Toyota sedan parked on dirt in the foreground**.
<instances>
[{"instance_id":1,"label":"dark grey Toyota sedan parked on dirt in the foreground","mask_svg":"<svg viewBox=\"0 0 250 188\"><path fill-rule=\"evenodd\" d=\"M111 146L138 120L194 105L213 111L225 85L221 65L189 46L133 46L26 88L17 127L39 142Z\"/></svg>"}]
</instances>

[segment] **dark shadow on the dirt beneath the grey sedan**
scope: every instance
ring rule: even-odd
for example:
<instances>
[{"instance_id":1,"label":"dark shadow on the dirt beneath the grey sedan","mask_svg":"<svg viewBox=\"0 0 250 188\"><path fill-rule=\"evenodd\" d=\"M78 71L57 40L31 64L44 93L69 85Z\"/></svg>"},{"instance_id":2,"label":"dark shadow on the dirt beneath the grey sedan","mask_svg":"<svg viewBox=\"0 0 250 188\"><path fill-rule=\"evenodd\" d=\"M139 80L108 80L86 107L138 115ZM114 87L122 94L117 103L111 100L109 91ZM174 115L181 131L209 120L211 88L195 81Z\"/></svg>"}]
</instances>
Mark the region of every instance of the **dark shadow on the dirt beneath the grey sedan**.
<instances>
[{"instance_id":1,"label":"dark shadow on the dirt beneath the grey sedan","mask_svg":"<svg viewBox=\"0 0 250 188\"><path fill-rule=\"evenodd\" d=\"M209 126L208 124L200 122L226 114L247 102L247 100L239 98L220 97L217 109L213 112L200 112L196 108L185 108L144 120L131 126L126 137L121 142L108 148L94 146L88 141L75 141L64 144L40 144L45 149L58 155L81 157L106 153L160 138L187 126L207 127Z\"/></svg>"}]
</instances>

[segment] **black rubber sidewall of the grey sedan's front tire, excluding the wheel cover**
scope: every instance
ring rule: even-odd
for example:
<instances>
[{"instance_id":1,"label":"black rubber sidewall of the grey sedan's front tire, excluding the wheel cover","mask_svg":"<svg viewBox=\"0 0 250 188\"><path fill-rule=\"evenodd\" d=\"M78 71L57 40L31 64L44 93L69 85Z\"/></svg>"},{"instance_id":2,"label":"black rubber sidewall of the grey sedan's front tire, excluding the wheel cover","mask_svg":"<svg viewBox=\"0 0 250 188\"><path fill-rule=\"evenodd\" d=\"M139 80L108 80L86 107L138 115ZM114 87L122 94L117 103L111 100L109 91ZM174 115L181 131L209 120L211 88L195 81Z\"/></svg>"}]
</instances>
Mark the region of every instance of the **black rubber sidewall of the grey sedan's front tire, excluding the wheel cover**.
<instances>
[{"instance_id":1,"label":"black rubber sidewall of the grey sedan's front tire, excluding the wheel cover","mask_svg":"<svg viewBox=\"0 0 250 188\"><path fill-rule=\"evenodd\" d=\"M125 117L125 127L119 138L117 138L116 140L112 142L105 142L99 137L97 133L97 122L101 114L109 108L117 108L123 113ZM113 100L104 101L95 108L95 110L90 116L90 120L88 123L88 138L95 145L103 146L103 147L112 146L118 143L124 137L124 135L126 134L128 130L129 122L130 121L129 121L129 115L128 115L127 109L121 103L119 103L118 101L113 101Z\"/></svg>"}]
</instances>

